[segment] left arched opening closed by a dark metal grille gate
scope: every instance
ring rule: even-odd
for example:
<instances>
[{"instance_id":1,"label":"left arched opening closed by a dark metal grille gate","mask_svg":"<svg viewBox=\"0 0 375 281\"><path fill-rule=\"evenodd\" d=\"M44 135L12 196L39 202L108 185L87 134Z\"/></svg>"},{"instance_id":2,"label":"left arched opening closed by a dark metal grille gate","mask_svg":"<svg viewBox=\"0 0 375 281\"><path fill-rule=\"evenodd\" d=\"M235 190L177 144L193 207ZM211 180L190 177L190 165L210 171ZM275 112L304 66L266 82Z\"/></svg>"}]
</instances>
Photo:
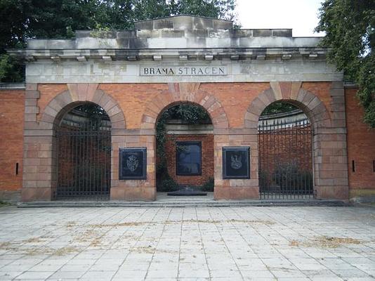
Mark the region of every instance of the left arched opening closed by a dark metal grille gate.
<instances>
[{"instance_id":1,"label":"left arched opening closed by a dark metal grille gate","mask_svg":"<svg viewBox=\"0 0 375 281\"><path fill-rule=\"evenodd\" d=\"M56 124L56 199L105 200L110 195L111 122L95 103L65 108Z\"/></svg>"}]
</instances>

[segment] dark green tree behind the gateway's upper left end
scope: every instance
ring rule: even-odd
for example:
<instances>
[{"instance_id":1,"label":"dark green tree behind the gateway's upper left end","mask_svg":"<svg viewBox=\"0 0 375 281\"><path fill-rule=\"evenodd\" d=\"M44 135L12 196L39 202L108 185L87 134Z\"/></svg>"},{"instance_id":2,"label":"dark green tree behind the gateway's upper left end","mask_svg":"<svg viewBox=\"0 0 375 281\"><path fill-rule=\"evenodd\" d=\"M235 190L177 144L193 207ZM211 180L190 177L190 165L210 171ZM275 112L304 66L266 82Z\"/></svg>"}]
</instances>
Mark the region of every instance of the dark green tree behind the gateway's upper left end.
<instances>
[{"instance_id":1,"label":"dark green tree behind the gateway's upper left end","mask_svg":"<svg viewBox=\"0 0 375 281\"><path fill-rule=\"evenodd\" d=\"M6 48L25 48L31 38L70 38L73 30L90 29L98 0L0 0L0 81L22 81L20 61Z\"/></svg>"}]
</instances>

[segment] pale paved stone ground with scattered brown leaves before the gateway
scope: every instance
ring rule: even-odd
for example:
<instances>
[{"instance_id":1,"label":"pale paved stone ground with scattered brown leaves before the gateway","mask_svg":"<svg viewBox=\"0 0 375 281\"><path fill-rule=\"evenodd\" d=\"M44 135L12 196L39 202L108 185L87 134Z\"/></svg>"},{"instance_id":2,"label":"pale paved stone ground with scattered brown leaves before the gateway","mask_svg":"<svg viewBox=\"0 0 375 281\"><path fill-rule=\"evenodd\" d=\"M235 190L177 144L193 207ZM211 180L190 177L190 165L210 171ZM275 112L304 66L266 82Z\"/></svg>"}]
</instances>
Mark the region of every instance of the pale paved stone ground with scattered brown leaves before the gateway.
<instances>
[{"instance_id":1,"label":"pale paved stone ground with scattered brown leaves before the gateway","mask_svg":"<svg viewBox=\"0 0 375 281\"><path fill-rule=\"evenodd\" d=\"M3 207L0 218L0 280L375 280L374 207Z\"/></svg>"}]
</instances>

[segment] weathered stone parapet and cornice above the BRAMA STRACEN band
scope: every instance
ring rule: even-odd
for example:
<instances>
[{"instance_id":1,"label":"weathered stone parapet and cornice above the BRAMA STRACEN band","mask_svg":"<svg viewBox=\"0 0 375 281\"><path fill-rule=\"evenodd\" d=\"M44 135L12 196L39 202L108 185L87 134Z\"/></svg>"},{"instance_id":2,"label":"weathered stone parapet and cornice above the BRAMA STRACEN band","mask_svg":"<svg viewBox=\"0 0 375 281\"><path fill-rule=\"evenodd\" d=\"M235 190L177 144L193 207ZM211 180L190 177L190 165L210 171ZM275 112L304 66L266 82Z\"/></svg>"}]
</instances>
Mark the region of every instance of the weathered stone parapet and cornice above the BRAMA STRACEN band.
<instances>
[{"instance_id":1,"label":"weathered stone parapet and cornice above the BRAMA STRACEN band","mask_svg":"<svg viewBox=\"0 0 375 281\"><path fill-rule=\"evenodd\" d=\"M74 39L29 39L8 53L35 60L265 60L324 58L321 37L291 29L235 29L232 21L177 15L135 22L135 30L79 30Z\"/></svg>"}]
</instances>

